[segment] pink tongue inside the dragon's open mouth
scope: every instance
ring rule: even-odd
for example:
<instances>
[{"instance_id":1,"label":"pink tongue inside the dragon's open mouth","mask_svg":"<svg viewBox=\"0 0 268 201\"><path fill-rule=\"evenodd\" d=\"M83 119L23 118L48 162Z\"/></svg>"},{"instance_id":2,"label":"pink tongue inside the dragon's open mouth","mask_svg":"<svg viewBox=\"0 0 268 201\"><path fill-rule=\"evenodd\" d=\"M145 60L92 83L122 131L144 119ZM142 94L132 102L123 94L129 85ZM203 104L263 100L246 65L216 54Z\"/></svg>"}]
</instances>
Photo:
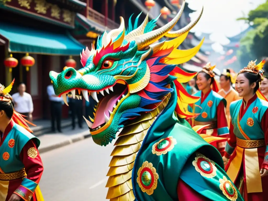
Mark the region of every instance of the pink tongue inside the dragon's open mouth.
<instances>
[{"instance_id":1,"label":"pink tongue inside the dragon's open mouth","mask_svg":"<svg viewBox=\"0 0 268 201\"><path fill-rule=\"evenodd\" d=\"M113 106L118 98L119 98L118 94L114 96L107 95L101 100L95 115L92 128L97 128L99 125L105 123L104 113L106 114L107 117L110 117L110 113L108 110L113 111Z\"/></svg>"}]
</instances>

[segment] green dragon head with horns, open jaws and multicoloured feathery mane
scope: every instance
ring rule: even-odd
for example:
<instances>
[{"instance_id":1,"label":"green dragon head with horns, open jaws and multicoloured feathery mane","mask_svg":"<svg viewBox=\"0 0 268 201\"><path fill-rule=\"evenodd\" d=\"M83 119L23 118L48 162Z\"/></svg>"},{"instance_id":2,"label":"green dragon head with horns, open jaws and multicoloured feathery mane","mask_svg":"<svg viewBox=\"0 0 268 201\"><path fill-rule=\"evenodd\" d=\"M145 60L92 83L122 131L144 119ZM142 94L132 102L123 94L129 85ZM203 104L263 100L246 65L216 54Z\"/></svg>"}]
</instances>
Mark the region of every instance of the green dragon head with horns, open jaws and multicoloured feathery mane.
<instances>
[{"instance_id":1,"label":"green dragon head with horns, open jaws and multicoloured feathery mane","mask_svg":"<svg viewBox=\"0 0 268 201\"><path fill-rule=\"evenodd\" d=\"M187 110L187 105L199 98L187 94L180 83L189 81L196 73L186 73L176 65L189 61L199 51L204 39L192 49L177 48L200 19L203 9L186 27L170 31L179 20L184 5L185 2L173 20L155 30L159 17L148 22L147 14L139 27L139 16L134 25L130 18L127 30L120 17L120 27L104 32L97 40L96 49L92 45L91 50L82 51L83 68L50 72L55 94L62 96L66 104L69 93L73 97L83 95L94 107L90 121L85 120L95 143L106 146L129 120L159 106L166 95L173 92L172 82L178 96L175 112L181 118L194 115ZM158 42L164 36L172 40Z\"/></svg>"}]
</instances>

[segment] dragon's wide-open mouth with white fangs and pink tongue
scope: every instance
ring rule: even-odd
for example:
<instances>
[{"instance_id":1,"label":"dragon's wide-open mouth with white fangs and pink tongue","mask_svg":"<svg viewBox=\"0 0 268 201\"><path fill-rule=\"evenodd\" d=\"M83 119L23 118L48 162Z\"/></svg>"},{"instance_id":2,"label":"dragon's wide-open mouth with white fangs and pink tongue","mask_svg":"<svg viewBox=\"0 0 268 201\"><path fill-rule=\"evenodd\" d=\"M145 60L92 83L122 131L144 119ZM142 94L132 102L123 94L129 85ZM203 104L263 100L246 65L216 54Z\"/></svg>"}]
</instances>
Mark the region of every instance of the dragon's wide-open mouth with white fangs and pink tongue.
<instances>
[{"instance_id":1,"label":"dragon's wide-open mouth with white fangs and pink tongue","mask_svg":"<svg viewBox=\"0 0 268 201\"><path fill-rule=\"evenodd\" d=\"M115 114L119 105L129 96L129 90L124 81L118 81L113 86L106 87L99 91L73 88L61 94L64 101L66 99L66 95L73 98L77 97L78 99L82 99L83 96L88 102L90 101L89 96L91 96L92 99L97 102L94 107L94 116L89 116L93 123L84 117L90 131L93 132L102 128L109 121L112 121L113 114ZM66 102L67 101L65 101L65 103Z\"/></svg>"}]
</instances>

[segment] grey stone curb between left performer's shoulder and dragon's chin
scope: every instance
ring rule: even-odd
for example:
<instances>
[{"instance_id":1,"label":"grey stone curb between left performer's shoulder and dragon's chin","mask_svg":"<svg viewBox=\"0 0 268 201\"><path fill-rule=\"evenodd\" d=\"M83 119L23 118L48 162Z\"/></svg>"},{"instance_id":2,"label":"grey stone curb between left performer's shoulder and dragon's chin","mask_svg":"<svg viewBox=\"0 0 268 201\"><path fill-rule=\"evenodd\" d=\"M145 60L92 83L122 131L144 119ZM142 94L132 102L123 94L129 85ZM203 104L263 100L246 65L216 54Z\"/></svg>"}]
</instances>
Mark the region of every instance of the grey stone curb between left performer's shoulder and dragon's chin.
<instances>
[{"instance_id":1,"label":"grey stone curb between left performer's shoulder and dragon's chin","mask_svg":"<svg viewBox=\"0 0 268 201\"><path fill-rule=\"evenodd\" d=\"M51 151L51 150L54 150L54 149L57 149L60 147L64 147L64 146L69 145L69 144L73 144L75 142L79 142L81 140L87 139L88 137L91 137L91 134L73 136L73 137L70 137L69 139L66 139L66 140L59 142L57 144L51 144L49 146L39 148L38 151L40 154L42 154L42 153L47 152L47 151Z\"/></svg>"}]
</instances>

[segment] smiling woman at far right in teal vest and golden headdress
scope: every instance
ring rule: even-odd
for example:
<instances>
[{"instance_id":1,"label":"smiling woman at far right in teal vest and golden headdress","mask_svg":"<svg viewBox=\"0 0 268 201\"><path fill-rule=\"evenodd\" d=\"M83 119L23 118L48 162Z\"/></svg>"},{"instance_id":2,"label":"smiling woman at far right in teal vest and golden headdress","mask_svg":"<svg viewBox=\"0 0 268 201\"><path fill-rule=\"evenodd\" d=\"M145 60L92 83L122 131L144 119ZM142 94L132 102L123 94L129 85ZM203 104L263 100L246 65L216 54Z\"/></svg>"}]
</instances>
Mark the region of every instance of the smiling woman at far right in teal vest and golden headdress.
<instances>
[{"instance_id":1,"label":"smiling woman at far right in teal vest and golden headdress","mask_svg":"<svg viewBox=\"0 0 268 201\"><path fill-rule=\"evenodd\" d=\"M223 157L225 164L230 158L227 174L249 201L268 197L268 102L259 91L265 62L255 62L237 76L235 87L243 100L230 105L230 139Z\"/></svg>"}]
</instances>

